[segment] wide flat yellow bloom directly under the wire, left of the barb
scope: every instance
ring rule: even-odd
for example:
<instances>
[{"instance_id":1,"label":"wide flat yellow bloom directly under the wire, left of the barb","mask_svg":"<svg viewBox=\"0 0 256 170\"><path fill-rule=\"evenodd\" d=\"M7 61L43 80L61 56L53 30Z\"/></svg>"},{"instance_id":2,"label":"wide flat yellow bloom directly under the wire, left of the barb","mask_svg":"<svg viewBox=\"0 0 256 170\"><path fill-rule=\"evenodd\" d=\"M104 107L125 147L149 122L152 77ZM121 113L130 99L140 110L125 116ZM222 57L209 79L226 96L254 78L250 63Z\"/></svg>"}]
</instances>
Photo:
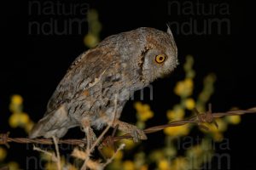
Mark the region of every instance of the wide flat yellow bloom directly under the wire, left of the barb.
<instances>
[{"instance_id":1,"label":"wide flat yellow bloom directly under the wire, left of the barb","mask_svg":"<svg viewBox=\"0 0 256 170\"><path fill-rule=\"evenodd\" d=\"M177 127L166 127L164 133L169 136L184 136L189 134L189 125L185 124Z\"/></svg>"}]
</instances>

